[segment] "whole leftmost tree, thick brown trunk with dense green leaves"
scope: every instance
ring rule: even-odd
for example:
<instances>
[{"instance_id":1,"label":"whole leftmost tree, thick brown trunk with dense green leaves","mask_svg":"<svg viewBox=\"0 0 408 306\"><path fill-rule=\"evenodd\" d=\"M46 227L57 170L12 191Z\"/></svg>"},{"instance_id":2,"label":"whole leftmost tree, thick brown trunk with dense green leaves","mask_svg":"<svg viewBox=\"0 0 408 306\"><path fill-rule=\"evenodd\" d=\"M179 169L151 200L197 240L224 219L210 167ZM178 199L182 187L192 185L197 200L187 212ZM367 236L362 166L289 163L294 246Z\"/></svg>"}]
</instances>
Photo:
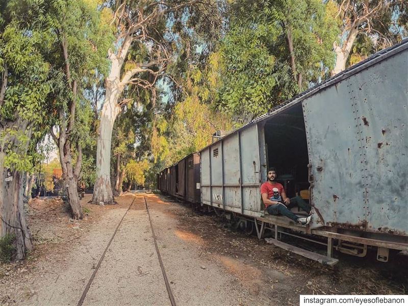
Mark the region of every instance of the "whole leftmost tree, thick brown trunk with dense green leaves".
<instances>
[{"instance_id":1,"label":"whole leftmost tree, thick brown trunk with dense green leaves","mask_svg":"<svg viewBox=\"0 0 408 306\"><path fill-rule=\"evenodd\" d=\"M0 237L13 237L17 260L32 248L23 209L30 147L52 112L51 67L43 54L50 28L44 20L41 2L0 1Z\"/></svg>"}]
</instances>

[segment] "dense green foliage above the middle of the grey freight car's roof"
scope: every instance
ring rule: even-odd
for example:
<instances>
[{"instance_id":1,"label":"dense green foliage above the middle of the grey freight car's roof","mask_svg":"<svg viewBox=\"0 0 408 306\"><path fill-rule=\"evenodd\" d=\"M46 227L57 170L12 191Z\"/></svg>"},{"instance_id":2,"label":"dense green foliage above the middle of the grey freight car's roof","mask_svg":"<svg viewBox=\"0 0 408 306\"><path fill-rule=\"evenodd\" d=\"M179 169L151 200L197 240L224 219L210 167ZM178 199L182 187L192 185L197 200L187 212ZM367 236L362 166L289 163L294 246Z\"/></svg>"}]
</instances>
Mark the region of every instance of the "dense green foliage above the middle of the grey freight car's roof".
<instances>
[{"instance_id":1,"label":"dense green foliage above the middle of the grey freight car's roof","mask_svg":"<svg viewBox=\"0 0 408 306\"><path fill-rule=\"evenodd\" d=\"M217 108L248 121L319 82L334 64L338 35L326 6L320 0L235 3L229 30L210 62L217 70L210 78Z\"/></svg>"}]
</instances>

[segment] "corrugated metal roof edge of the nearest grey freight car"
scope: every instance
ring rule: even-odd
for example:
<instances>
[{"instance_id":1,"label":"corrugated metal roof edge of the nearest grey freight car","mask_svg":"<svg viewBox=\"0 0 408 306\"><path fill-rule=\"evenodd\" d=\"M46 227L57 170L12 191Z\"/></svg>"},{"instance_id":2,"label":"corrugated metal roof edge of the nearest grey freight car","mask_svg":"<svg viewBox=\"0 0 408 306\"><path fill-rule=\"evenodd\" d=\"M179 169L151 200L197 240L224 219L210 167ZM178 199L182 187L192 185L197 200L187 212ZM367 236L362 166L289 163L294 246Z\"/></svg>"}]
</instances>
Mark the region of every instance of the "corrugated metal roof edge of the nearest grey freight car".
<instances>
[{"instance_id":1,"label":"corrugated metal roof edge of the nearest grey freight car","mask_svg":"<svg viewBox=\"0 0 408 306\"><path fill-rule=\"evenodd\" d=\"M224 137L220 138L219 140L217 140L216 142L209 144L208 146L202 148L200 150L203 151L205 149L207 149L208 147L218 143L219 141L221 141L222 139L240 131L243 129L246 129L246 127L248 127L249 125L252 125L254 123L260 122L262 120L268 119L269 117L275 115L276 113L279 113L281 111L283 111L284 109L287 109L289 107L292 107L298 103L300 103L302 100L304 100L305 98L331 86L334 85L338 82L341 82L349 77L351 77L351 75L356 74L358 72L360 72L363 69L366 69L380 61L383 61L387 58L389 58L390 56L393 56L394 54L400 53L403 50L408 49L408 38L402 40L400 43L391 46L389 48L383 49L375 54L373 54L372 56L370 56L369 58L367 58L364 61L361 61L345 70L343 70L342 72L334 75L334 77L331 77L330 79L325 80L322 83L317 84L314 87L309 88L306 91L303 91L302 93L294 96L293 98L285 101L282 104L279 104L278 106L275 106L274 108L272 108L271 110L269 110L267 113L251 120L250 122L246 123L245 125L241 126L239 129L236 129L234 131L232 131L231 133L228 133L227 135L225 135Z\"/></svg>"}]
</instances>

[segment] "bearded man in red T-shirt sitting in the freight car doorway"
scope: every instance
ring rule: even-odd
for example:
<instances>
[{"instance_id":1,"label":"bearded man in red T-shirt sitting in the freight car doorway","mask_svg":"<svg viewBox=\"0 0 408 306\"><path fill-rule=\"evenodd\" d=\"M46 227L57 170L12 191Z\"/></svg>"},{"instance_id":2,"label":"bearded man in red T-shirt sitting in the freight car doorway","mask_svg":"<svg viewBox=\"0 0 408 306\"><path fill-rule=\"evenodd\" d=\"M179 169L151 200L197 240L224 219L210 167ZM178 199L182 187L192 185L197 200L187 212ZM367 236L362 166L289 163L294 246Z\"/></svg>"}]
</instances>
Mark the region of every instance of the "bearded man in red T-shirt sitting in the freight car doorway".
<instances>
[{"instance_id":1,"label":"bearded man in red T-shirt sitting in the freight car doorway","mask_svg":"<svg viewBox=\"0 0 408 306\"><path fill-rule=\"evenodd\" d=\"M308 214L310 214L311 206L305 202L300 196L289 199L282 184L275 181L275 168L269 168L268 181L261 185L262 201L265 204L266 210L270 215L284 215L291 218L293 221L302 225L309 224L311 216L307 218L299 218L290 211L292 207L298 206Z\"/></svg>"}]
</instances>

